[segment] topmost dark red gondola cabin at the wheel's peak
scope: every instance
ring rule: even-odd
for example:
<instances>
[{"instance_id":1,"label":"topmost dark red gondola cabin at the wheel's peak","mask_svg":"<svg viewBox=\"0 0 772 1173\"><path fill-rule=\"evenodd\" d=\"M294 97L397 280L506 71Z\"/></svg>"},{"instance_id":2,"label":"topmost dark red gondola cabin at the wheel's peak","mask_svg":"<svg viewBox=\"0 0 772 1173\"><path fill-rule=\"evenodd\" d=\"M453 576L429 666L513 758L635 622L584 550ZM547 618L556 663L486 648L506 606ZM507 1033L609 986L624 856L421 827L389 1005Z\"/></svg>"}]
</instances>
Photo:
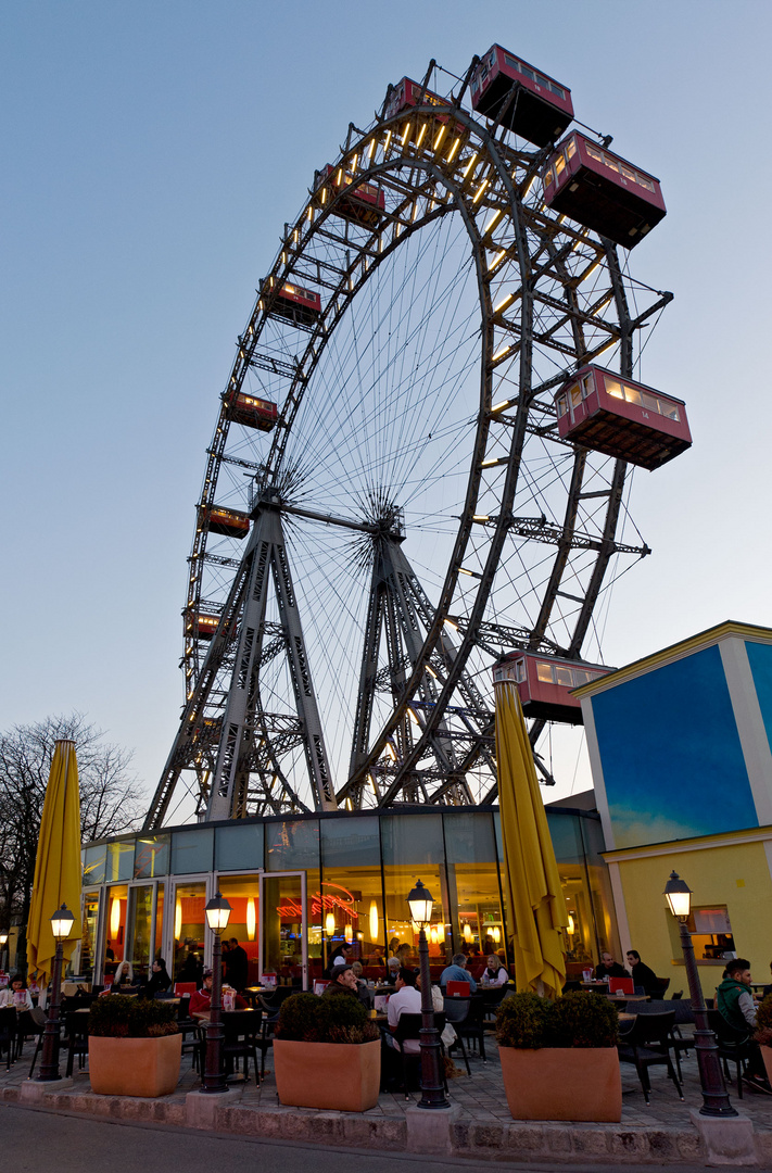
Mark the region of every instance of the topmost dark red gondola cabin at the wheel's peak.
<instances>
[{"instance_id":1,"label":"topmost dark red gondola cabin at the wheel's peak","mask_svg":"<svg viewBox=\"0 0 772 1173\"><path fill-rule=\"evenodd\" d=\"M514 97L504 103L514 89ZM563 134L574 118L571 91L562 82L534 69L527 61L493 45L472 75L472 108L488 118L500 115L502 126L546 147Z\"/></svg>"}]
</instances>

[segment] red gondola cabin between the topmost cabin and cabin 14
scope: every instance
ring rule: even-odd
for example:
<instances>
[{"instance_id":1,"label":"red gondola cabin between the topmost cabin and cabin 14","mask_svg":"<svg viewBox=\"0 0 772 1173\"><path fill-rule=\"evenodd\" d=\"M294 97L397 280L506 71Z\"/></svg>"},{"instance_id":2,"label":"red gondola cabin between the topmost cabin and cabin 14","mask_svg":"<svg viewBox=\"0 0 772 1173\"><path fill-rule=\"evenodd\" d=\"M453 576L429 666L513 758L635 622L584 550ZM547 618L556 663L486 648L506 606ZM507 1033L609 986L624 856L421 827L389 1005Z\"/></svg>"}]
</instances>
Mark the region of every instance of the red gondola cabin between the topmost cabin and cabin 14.
<instances>
[{"instance_id":1,"label":"red gondola cabin between the topmost cabin and cabin 14","mask_svg":"<svg viewBox=\"0 0 772 1173\"><path fill-rule=\"evenodd\" d=\"M666 215L659 179L574 130L543 174L553 211L632 249Z\"/></svg>"}]
</instances>

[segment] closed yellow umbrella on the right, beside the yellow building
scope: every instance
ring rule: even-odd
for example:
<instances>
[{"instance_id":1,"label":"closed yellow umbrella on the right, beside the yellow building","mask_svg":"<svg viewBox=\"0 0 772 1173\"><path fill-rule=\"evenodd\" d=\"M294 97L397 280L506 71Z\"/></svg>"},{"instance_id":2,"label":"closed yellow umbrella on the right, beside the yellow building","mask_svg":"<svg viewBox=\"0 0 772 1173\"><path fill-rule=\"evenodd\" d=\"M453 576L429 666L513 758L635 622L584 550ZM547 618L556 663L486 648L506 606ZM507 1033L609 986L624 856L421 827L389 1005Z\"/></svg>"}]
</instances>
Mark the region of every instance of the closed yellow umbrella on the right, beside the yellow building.
<instances>
[{"instance_id":1,"label":"closed yellow umbrella on the right, beside the yellow building","mask_svg":"<svg viewBox=\"0 0 772 1173\"><path fill-rule=\"evenodd\" d=\"M515 981L548 998L566 982L561 928L568 924L555 850L516 686L497 683L496 764L504 884L515 922Z\"/></svg>"}]
</instances>

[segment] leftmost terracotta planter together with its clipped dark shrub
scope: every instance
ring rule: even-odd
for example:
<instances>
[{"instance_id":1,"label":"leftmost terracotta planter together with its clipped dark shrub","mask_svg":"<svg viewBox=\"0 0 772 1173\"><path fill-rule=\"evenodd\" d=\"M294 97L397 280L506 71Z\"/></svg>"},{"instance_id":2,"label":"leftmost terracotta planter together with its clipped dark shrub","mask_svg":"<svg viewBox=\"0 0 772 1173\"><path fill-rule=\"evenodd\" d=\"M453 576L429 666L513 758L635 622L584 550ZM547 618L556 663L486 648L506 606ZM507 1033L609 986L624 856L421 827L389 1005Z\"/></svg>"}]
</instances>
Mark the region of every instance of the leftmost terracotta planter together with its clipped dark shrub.
<instances>
[{"instance_id":1,"label":"leftmost terracotta planter together with its clipped dark shrub","mask_svg":"<svg viewBox=\"0 0 772 1173\"><path fill-rule=\"evenodd\" d=\"M182 1035L168 1002L110 994L88 1016L88 1071L100 1096L169 1096L180 1082Z\"/></svg>"}]
</instances>

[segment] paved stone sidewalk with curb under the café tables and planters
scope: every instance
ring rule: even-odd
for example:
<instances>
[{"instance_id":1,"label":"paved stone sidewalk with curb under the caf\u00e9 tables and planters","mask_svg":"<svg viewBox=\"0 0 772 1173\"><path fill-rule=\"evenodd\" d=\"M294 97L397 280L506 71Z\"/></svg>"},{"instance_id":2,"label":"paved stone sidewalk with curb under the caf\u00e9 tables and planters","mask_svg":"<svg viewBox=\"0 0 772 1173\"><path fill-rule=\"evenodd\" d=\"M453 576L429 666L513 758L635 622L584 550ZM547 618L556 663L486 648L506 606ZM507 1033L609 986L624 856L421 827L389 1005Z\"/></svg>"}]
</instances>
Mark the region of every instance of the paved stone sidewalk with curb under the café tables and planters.
<instances>
[{"instance_id":1,"label":"paved stone sidewalk with curb under the caf\u00e9 tables and planters","mask_svg":"<svg viewBox=\"0 0 772 1173\"><path fill-rule=\"evenodd\" d=\"M440 1120L438 1113L417 1111L413 1105L418 1101L418 1093L412 1094L409 1103L405 1101L401 1093L382 1093L378 1106L364 1113L283 1107L276 1093L270 1052L265 1079L259 1086L250 1079L246 1084L236 1084L224 1096L188 1098L201 1084L185 1056L181 1080L174 1094L160 1099L133 1099L95 1096L90 1090L88 1071L79 1072L77 1066L72 1086L60 1087L54 1092L47 1090L50 1085L33 1086L27 1079L32 1059L32 1045L28 1045L25 1056L9 1071L5 1066L0 1067L0 1099L31 1105L38 1103L49 1111L134 1123L197 1126L217 1132L233 1132L242 1137L347 1145L385 1152L445 1151L456 1157L486 1160L543 1159L567 1164L707 1162L709 1153L704 1140L690 1119L690 1110L702 1105L693 1051L683 1063L684 1103L678 1099L663 1069L655 1069L651 1072L651 1105L646 1107L635 1069L623 1064L622 1123L595 1125L513 1120L503 1093L497 1047L493 1038L486 1039L486 1047L487 1064L478 1057L470 1057L472 1077L467 1077L465 1072L462 1077L451 1080L449 1096L454 1111L449 1120L445 1113L439 1114L445 1117ZM62 1072L65 1063L66 1056L61 1065ZM588 1078L592 1078L591 1070L588 1070ZM23 1085L26 1090L22 1092ZM749 1121L745 1125L749 1134L752 1125L756 1160L751 1157L741 1164L772 1169L772 1097L747 1091L744 1099L739 1100L733 1086L729 1091L732 1104ZM431 1127L428 1118L436 1118ZM445 1128L440 1147L435 1135L438 1126L440 1132ZM427 1128L432 1137L425 1141ZM447 1147L443 1148L445 1137Z\"/></svg>"}]
</instances>

